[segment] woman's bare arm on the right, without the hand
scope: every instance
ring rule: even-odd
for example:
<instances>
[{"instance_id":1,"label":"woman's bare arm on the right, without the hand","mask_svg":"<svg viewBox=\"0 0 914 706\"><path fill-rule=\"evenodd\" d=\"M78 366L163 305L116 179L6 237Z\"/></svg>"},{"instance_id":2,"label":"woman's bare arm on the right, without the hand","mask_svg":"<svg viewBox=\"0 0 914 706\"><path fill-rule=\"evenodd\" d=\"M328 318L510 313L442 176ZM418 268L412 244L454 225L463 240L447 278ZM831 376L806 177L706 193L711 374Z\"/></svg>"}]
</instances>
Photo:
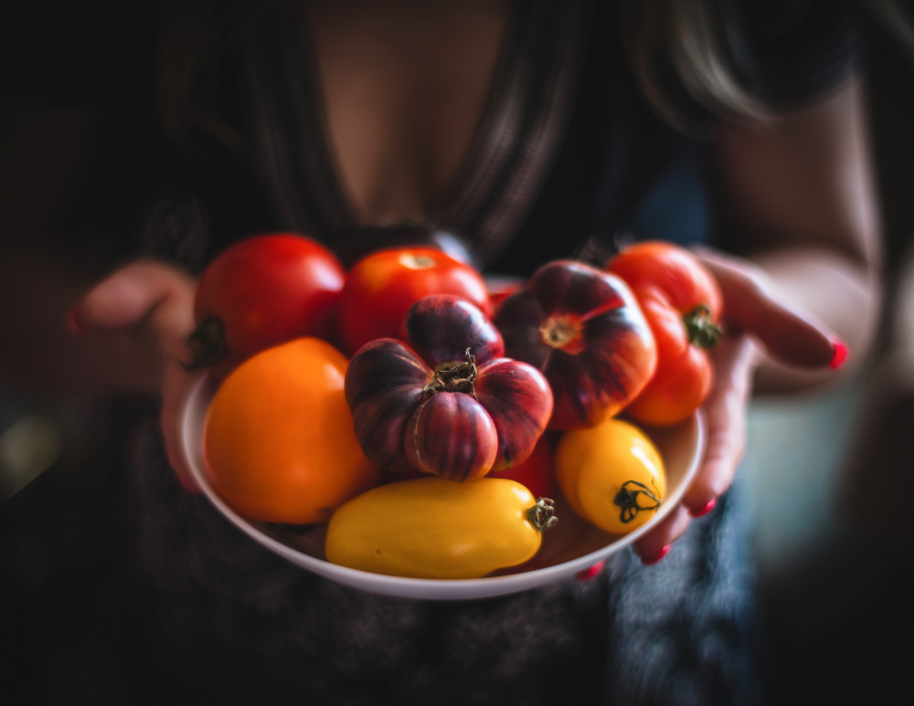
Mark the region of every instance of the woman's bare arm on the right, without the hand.
<instances>
[{"instance_id":1,"label":"woman's bare arm on the right, without the hand","mask_svg":"<svg viewBox=\"0 0 914 706\"><path fill-rule=\"evenodd\" d=\"M854 369L873 342L882 299L860 82L765 125L722 125L714 158L729 246L760 266L781 300L834 331L850 352L845 369ZM783 392L832 376L766 356L755 386Z\"/></svg>"}]
</instances>

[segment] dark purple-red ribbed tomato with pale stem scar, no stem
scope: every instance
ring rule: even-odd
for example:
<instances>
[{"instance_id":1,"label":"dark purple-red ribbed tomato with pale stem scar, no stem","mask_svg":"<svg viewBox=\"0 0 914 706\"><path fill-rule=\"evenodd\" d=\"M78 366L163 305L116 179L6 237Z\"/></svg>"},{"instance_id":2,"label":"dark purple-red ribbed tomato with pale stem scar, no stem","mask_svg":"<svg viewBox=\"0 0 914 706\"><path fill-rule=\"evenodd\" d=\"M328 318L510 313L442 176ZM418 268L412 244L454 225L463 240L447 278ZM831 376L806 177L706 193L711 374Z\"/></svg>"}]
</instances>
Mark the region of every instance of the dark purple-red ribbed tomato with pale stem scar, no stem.
<instances>
[{"instance_id":1,"label":"dark purple-red ribbed tomato with pale stem scar, no stem","mask_svg":"<svg viewBox=\"0 0 914 706\"><path fill-rule=\"evenodd\" d=\"M546 375L549 426L592 427L622 410L654 374L657 350L632 291L580 262L538 269L502 301L494 323L505 354Z\"/></svg>"}]
</instances>

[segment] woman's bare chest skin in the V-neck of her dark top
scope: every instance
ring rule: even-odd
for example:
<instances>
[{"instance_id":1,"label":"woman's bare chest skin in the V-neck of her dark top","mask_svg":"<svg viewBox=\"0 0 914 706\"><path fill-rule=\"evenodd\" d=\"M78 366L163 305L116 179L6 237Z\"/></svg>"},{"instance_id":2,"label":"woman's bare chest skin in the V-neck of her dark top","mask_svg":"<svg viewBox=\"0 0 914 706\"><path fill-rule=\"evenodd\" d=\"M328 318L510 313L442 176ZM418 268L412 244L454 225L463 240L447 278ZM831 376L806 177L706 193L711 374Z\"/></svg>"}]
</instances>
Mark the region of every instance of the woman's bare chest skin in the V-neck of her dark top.
<instances>
[{"instance_id":1,"label":"woman's bare chest skin in the V-neck of her dark top","mask_svg":"<svg viewBox=\"0 0 914 706\"><path fill-rule=\"evenodd\" d=\"M427 216L490 104L510 3L307 6L324 140L356 219Z\"/></svg>"}]
</instances>

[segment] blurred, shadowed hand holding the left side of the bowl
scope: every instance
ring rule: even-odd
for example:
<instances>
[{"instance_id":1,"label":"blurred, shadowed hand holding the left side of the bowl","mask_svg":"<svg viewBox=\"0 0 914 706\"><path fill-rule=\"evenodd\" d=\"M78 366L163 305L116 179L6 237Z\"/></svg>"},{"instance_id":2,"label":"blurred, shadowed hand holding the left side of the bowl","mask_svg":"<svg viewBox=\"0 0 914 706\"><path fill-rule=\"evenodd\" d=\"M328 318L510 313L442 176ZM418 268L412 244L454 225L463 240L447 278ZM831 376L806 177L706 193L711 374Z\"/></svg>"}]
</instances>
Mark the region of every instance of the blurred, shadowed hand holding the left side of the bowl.
<instances>
[{"instance_id":1,"label":"blurred, shadowed hand holding the left side of the bowl","mask_svg":"<svg viewBox=\"0 0 914 706\"><path fill-rule=\"evenodd\" d=\"M162 262L141 260L97 284L70 312L80 336L107 337L135 351L134 385L161 395L161 423L168 459L187 490L199 490L178 452L180 406L198 374L189 373L186 340L194 330L196 284Z\"/></svg>"}]
</instances>

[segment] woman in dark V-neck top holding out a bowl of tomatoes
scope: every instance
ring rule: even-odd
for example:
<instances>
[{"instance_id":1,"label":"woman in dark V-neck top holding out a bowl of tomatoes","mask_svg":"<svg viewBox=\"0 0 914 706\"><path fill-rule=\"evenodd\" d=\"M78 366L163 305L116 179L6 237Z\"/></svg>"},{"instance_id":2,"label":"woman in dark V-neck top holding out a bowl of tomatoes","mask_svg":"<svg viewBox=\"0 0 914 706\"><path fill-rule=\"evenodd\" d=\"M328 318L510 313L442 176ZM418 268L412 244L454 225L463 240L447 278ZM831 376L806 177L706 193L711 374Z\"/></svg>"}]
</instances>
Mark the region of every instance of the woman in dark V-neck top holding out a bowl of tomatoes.
<instances>
[{"instance_id":1,"label":"woman in dark V-neck top holding out a bowl of tomatoes","mask_svg":"<svg viewBox=\"0 0 914 706\"><path fill-rule=\"evenodd\" d=\"M727 493L745 406L753 390L824 383L848 349L863 360L877 320L877 212L848 8L555 5L164 3L154 116L141 82L113 108L100 98L37 110L54 130L22 128L66 148L37 185L46 203L70 206L64 230L81 233L84 252L104 243L109 261L155 256L88 287L92 258L82 272L50 269L8 210L16 270L32 267L5 289L41 291L45 303L27 327L4 298L4 321L28 335L3 364L22 379L161 400L164 446L153 427L133 439L128 526L141 560L131 585L163 616L165 628L147 629L179 655L171 666L237 659L277 698L309 689L319 702L754 696L740 623L749 564ZM73 191L61 201L52 177L85 164L86 145L98 188L82 194L95 203ZM123 237L141 205L143 227ZM728 337L698 477L634 546L643 564L669 552L662 564L624 556L593 584L467 605L381 599L264 556L163 471L164 449L194 490L174 439L191 381L181 362L193 273L208 258L280 227L352 258L417 220L465 238L486 269L520 275L552 258L600 258L629 235L713 238L741 256L700 251L724 292ZM42 227L54 235L28 223L36 237ZM71 336L61 321L74 305ZM213 664L198 656L207 650ZM226 698L251 687L240 671ZM171 698L180 678L164 683ZM213 688L188 683L185 693Z\"/></svg>"}]
</instances>

